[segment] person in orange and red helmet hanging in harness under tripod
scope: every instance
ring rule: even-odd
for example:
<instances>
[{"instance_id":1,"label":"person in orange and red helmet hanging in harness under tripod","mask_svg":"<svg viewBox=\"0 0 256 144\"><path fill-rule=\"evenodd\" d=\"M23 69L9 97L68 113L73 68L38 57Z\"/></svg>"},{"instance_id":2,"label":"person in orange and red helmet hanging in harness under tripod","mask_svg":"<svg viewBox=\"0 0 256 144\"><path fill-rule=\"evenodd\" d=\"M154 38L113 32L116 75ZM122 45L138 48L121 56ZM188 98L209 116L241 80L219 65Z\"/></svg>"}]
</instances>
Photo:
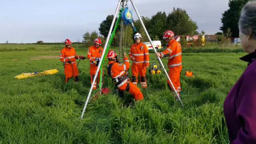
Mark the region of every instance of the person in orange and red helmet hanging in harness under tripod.
<instances>
[{"instance_id":1,"label":"person in orange and red helmet hanging in harness under tripod","mask_svg":"<svg viewBox=\"0 0 256 144\"><path fill-rule=\"evenodd\" d=\"M114 50L108 52L108 75L114 80L115 85L120 92L130 92L136 101L143 100L142 92L140 92L140 89L137 86L130 82L130 78L126 72L128 68L130 68L130 62L125 52L123 53L123 56L124 64L120 64L116 52Z\"/></svg>"}]
</instances>

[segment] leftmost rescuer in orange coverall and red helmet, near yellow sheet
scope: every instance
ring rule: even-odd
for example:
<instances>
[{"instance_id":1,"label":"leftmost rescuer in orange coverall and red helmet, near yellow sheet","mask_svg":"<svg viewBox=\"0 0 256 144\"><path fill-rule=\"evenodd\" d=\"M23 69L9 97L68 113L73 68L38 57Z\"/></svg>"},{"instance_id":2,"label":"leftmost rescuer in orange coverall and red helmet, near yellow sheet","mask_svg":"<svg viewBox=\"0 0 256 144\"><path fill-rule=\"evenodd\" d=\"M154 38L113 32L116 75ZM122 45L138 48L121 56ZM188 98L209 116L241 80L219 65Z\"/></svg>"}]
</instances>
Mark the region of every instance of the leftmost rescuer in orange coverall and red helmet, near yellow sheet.
<instances>
[{"instance_id":1,"label":"leftmost rescuer in orange coverall and red helmet, near yellow sheet","mask_svg":"<svg viewBox=\"0 0 256 144\"><path fill-rule=\"evenodd\" d=\"M84 56L76 55L75 49L71 46L71 41L69 39L65 40L65 48L60 51L60 61L64 62L64 74L65 82L67 83L72 75L74 77L74 82L78 82L78 68L76 66L76 59L84 60Z\"/></svg>"}]
</instances>

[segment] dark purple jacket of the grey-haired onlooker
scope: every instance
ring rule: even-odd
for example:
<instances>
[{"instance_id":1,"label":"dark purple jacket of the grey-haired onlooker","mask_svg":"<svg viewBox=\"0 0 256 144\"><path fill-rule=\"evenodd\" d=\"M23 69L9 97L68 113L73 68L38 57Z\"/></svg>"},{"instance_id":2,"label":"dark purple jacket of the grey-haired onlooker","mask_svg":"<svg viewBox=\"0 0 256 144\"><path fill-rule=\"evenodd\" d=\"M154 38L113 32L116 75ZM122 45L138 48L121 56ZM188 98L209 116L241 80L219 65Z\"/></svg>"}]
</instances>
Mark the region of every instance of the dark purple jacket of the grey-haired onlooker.
<instances>
[{"instance_id":1,"label":"dark purple jacket of the grey-haired onlooker","mask_svg":"<svg viewBox=\"0 0 256 144\"><path fill-rule=\"evenodd\" d=\"M224 101L230 144L256 144L256 51L240 58L249 62Z\"/></svg>"}]
</instances>

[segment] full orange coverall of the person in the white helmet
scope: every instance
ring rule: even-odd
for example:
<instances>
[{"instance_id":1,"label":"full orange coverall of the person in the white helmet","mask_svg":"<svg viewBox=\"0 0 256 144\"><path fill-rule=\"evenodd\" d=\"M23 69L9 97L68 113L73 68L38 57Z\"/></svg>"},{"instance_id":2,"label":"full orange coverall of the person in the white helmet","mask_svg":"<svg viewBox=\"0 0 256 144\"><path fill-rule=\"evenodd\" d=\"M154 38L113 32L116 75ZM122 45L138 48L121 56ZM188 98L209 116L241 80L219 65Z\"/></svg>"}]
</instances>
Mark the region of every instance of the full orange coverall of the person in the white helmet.
<instances>
[{"instance_id":1,"label":"full orange coverall of the person in the white helmet","mask_svg":"<svg viewBox=\"0 0 256 144\"><path fill-rule=\"evenodd\" d=\"M146 88L146 66L149 66L149 53L147 46L142 42L139 44L132 44L129 57L131 60L132 58L135 58L135 60L132 62L132 83L137 86L138 73L140 73L140 84L143 88Z\"/></svg>"}]
</instances>

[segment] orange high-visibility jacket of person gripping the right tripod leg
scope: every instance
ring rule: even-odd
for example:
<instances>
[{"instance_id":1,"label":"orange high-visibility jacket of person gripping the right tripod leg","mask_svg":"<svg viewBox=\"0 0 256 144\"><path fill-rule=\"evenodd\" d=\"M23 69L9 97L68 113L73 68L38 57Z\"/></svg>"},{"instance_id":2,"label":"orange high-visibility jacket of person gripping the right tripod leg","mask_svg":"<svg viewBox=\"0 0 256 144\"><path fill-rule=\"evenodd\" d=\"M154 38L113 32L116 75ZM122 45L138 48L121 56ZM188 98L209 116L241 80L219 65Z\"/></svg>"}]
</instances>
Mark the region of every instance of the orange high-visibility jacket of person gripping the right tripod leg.
<instances>
[{"instance_id":1,"label":"orange high-visibility jacket of person gripping the right tripod leg","mask_svg":"<svg viewBox=\"0 0 256 144\"><path fill-rule=\"evenodd\" d=\"M180 66L182 65L181 58L181 46L174 38L170 40L167 44L166 50L160 52L160 58L168 58L168 67Z\"/></svg>"}]
</instances>

